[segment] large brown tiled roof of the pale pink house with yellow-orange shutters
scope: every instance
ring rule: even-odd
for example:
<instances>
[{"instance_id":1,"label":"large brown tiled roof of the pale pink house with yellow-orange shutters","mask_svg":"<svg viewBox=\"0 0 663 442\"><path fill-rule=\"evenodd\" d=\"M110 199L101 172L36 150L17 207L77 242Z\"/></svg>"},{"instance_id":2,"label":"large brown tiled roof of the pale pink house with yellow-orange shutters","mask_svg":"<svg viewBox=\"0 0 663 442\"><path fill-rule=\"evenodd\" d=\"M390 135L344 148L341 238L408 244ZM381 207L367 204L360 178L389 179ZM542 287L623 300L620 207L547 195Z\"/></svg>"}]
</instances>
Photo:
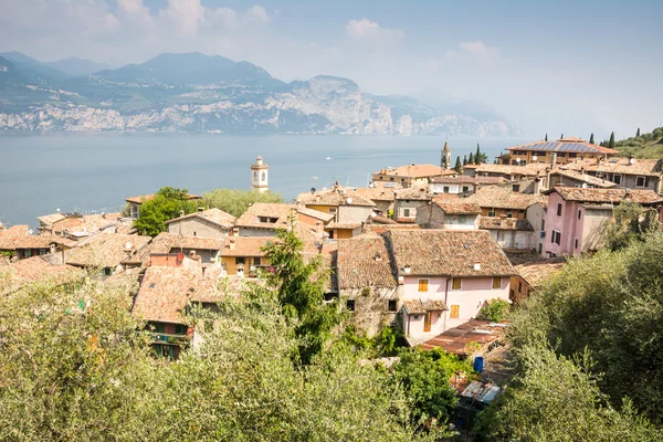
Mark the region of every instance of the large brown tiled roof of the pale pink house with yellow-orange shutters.
<instances>
[{"instance_id":1,"label":"large brown tiled roof of the pale pink house with yellow-orange shutters","mask_svg":"<svg viewBox=\"0 0 663 442\"><path fill-rule=\"evenodd\" d=\"M514 267L485 230L391 230L386 233L400 274L503 276ZM478 266L476 266L478 264Z\"/></svg>"}]
</instances>

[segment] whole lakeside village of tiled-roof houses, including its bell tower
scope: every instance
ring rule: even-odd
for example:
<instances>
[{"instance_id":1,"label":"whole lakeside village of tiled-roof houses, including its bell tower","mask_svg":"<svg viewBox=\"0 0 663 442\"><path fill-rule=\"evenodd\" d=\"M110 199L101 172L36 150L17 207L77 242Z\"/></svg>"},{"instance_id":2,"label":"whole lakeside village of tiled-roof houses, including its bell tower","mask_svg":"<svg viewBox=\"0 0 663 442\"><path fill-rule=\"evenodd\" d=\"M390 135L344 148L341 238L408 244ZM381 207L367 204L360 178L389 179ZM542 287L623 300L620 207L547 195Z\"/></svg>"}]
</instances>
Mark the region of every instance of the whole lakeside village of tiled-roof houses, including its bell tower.
<instances>
[{"instance_id":1,"label":"whole lakeside village of tiled-roof houses, including its bell tower","mask_svg":"<svg viewBox=\"0 0 663 442\"><path fill-rule=\"evenodd\" d=\"M339 299L362 335L399 329L409 346L473 358L482 371L507 326L482 318L484 307L517 305L567 259L600 249L620 203L661 218L663 160L620 154L569 137L513 146L495 164L477 152L476 164L452 168L444 143L439 165L383 168L366 188L311 189L293 202L253 203L240 217L188 194L198 210L154 238L135 227L154 194L126 198L123 213L44 214L39 232L2 227L2 292L84 274L127 284L156 355L177 359L201 340L187 312L213 309L260 283L271 267L265 249L290 230L306 259L329 266L326 298ZM262 157L249 173L252 190L269 190ZM487 402L490 380L459 392Z\"/></svg>"}]
</instances>

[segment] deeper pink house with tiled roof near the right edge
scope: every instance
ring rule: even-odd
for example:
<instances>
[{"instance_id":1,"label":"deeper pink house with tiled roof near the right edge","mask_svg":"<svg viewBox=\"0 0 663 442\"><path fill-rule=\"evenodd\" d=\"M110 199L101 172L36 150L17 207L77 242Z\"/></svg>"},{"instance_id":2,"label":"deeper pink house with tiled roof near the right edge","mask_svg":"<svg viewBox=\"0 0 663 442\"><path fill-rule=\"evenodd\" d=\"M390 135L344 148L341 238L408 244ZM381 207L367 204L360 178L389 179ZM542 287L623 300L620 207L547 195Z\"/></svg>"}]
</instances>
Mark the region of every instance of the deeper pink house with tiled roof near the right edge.
<instances>
[{"instance_id":1,"label":"deeper pink house with tiled roof near the right edge","mask_svg":"<svg viewBox=\"0 0 663 442\"><path fill-rule=\"evenodd\" d=\"M544 192L548 212L541 255L572 255L597 250L601 245L606 223L612 222L612 210L621 201L645 207L663 202L653 190L583 189L558 186Z\"/></svg>"}]
</instances>

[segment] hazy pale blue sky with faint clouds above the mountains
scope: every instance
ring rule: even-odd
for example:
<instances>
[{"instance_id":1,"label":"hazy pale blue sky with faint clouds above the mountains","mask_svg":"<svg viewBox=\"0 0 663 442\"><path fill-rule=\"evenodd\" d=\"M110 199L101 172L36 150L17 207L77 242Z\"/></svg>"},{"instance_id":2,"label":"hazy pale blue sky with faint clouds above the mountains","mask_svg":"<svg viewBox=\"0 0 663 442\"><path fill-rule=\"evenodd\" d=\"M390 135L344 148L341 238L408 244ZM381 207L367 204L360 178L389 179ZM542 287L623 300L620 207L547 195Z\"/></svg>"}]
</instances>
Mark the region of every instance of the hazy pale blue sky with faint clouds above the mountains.
<instances>
[{"instance_id":1,"label":"hazy pale blue sky with faint clouds above the mountains","mask_svg":"<svg viewBox=\"0 0 663 442\"><path fill-rule=\"evenodd\" d=\"M202 52L284 81L480 101L536 138L663 125L663 0L0 0L0 52L42 61Z\"/></svg>"}]
</instances>

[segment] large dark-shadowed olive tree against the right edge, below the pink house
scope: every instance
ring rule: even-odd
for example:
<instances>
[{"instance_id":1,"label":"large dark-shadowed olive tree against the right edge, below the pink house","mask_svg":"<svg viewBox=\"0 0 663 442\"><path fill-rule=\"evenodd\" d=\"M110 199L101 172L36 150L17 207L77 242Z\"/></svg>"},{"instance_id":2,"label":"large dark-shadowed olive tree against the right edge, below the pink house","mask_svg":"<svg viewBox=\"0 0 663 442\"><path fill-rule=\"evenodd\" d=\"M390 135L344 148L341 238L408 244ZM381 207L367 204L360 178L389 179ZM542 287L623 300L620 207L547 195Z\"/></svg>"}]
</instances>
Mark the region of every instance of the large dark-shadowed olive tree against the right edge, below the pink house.
<instances>
[{"instance_id":1,"label":"large dark-shadowed olive tree against the right edge, below the pink house","mask_svg":"<svg viewBox=\"0 0 663 442\"><path fill-rule=\"evenodd\" d=\"M514 354L545 340L571 357L589 349L599 387L613 407L629 397L662 423L663 235L651 233L618 252L570 260L526 299L507 328Z\"/></svg>"}]
</instances>

